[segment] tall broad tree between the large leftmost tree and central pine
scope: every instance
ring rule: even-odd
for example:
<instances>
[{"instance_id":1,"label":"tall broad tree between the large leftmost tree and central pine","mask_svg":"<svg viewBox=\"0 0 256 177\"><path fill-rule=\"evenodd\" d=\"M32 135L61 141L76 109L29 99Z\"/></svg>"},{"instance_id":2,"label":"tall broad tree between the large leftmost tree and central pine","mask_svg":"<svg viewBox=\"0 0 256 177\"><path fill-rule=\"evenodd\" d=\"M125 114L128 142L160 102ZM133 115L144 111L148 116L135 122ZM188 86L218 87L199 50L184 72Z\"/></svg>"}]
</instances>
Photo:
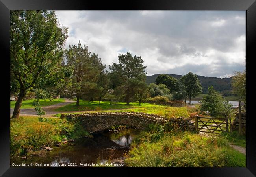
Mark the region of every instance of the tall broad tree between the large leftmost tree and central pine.
<instances>
[{"instance_id":1,"label":"tall broad tree between the large leftmost tree and central pine","mask_svg":"<svg viewBox=\"0 0 256 177\"><path fill-rule=\"evenodd\" d=\"M98 90L97 80L105 65L102 65L101 59L88 51L88 46L82 47L73 44L65 50L66 66L72 68L70 78L66 79L64 92L76 96L76 105L79 106L79 99L83 97L92 98L95 90Z\"/></svg>"}]
</instances>

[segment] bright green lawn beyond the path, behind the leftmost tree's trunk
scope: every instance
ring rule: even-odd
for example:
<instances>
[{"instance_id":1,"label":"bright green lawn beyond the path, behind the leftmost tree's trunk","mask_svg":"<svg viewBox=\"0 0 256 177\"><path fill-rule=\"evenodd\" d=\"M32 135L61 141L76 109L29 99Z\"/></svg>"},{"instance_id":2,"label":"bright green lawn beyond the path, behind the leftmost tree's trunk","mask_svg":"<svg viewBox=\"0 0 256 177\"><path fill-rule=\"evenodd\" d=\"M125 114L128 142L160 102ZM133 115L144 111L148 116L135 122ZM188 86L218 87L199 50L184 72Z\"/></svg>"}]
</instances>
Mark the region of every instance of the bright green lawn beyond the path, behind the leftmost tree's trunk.
<instances>
[{"instance_id":1,"label":"bright green lawn beyond the path, behind the leftmost tree's trunk","mask_svg":"<svg viewBox=\"0 0 256 177\"><path fill-rule=\"evenodd\" d=\"M32 105L34 100L35 99L23 100L21 109L34 108L34 106ZM44 107L44 106L50 106L50 105L54 105L54 104L58 104L58 103L62 103L62 102L65 102L65 100L63 98L53 99L52 101L50 101L49 99L46 99L46 100L40 99L39 105L41 107ZM14 108L15 103L16 103L16 101L10 101L10 107Z\"/></svg>"}]
</instances>

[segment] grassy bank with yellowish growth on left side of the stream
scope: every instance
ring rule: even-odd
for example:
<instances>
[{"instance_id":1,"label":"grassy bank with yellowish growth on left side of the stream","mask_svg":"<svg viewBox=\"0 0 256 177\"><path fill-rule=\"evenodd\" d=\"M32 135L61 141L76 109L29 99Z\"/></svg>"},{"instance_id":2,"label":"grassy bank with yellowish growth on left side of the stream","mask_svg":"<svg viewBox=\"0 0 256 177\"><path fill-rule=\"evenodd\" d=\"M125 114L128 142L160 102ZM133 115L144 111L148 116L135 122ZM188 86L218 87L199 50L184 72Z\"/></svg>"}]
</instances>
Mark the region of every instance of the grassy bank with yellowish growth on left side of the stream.
<instances>
[{"instance_id":1,"label":"grassy bank with yellowish growth on left side of the stream","mask_svg":"<svg viewBox=\"0 0 256 177\"><path fill-rule=\"evenodd\" d=\"M81 125L60 118L45 118L39 122L36 116L20 116L10 119L10 154L29 155L44 146L55 146L63 138L79 139L88 133Z\"/></svg>"}]
</instances>

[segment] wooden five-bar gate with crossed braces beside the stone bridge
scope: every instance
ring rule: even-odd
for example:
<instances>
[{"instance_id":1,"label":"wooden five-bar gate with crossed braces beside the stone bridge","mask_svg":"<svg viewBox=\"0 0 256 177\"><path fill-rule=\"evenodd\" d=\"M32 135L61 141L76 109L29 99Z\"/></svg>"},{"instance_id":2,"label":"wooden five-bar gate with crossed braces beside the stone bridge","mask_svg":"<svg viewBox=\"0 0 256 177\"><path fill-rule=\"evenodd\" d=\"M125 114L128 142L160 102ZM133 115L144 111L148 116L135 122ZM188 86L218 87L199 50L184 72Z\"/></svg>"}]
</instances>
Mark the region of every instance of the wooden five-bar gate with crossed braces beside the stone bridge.
<instances>
[{"instance_id":1,"label":"wooden five-bar gate with crossed braces beside the stone bridge","mask_svg":"<svg viewBox=\"0 0 256 177\"><path fill-rule=\"evenodd\" d=\"M214 124L210 124L214 123ZM221 126L225 125L225 126ZM216 117L199 117L195 118L195 128L197 131L205 133L228 133L228 118L216 118ZM208 130L208 131L204 131Z\"/></svg>"}]
</instances>

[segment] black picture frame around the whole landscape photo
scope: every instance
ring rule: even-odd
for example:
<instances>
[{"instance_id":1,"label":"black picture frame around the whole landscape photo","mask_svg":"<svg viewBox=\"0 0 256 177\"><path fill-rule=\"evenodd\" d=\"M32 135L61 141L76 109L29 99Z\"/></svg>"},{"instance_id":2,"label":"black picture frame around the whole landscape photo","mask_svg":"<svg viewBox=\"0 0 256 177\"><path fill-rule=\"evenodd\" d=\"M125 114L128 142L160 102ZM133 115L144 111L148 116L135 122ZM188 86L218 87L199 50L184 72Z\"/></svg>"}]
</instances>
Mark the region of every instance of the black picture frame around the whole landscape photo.
<instances>
[{"instance_id":1,"label":"black picture frame around the whole landscape photo","mask_svg":"<svg viewBox=\"0 0 256 177\"><path fill-rule=\"evenodd\" d=\"M54 10L243 10L246 11L246 72L247 72L247 152L246 168L26 168L10 167L9 158L9 11L14 9L54 9ZM89 1L89 0L0 0L0 45L1 45L1 79L4 84L2 91L2 113L0 128L0 175L6 176L51 176L54 172L64 176L78 174L78 172L94 175L104 172L109 175L134 175L124 173L123 170L147 170L156 174L189 176L225 176L241 177L256 175L256 141L255 125L253 117L252 99L254 98L254 77L252 68L256 43L256 2L255 0L133 0L133 1ZM249 95L249 96L248 96ZM111 174L109 170L119 170L119 173ZM122 170L122 172L120 171ZM162 173L162 170L167 173ZM109 173L108 173L109 171ZM137 172L134 172L137 173Z\"/></svg>"}]
</instances>

